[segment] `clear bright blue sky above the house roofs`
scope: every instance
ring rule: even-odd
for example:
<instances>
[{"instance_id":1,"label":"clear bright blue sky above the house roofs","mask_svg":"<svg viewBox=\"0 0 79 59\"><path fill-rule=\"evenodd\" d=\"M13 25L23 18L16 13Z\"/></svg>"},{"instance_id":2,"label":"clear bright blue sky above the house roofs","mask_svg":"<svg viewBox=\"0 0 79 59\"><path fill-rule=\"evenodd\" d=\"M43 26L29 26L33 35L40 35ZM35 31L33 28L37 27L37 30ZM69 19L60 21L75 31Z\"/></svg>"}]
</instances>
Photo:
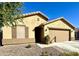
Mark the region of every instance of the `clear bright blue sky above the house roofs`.
<instances>
[{"instance_id":1,"label":"clear bright blue sky above the house roofs","mask_svg":"<svg viewBox=\"0 0 79 59\"><path fill-rule=\"evenodd\" d=\"M41 11L49 20L66 18L74 26L79 27L79 2L25 2L23 13Z\"/></svg>"}]
</instances>

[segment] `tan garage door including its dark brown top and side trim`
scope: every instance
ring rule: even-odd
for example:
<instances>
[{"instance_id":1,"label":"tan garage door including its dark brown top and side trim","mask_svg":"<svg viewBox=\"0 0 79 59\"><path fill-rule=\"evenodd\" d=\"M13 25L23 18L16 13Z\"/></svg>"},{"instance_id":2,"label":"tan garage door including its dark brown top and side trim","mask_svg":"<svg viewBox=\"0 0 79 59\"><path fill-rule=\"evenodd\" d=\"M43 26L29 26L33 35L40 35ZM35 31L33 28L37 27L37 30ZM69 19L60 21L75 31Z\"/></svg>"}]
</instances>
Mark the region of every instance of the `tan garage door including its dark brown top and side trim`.
<instances>
[{"instance_id":1,"label":"tan garage door including its dark brown top and side trim","mask_svg":"<svg viewBox=\"0 0 79 59\"><path fill-rule=\"evenodd\" d=\"M69 29L50 28L49 29L50 41L63 42L71 39L71 33Z\"/></svg>"}]
</instances>

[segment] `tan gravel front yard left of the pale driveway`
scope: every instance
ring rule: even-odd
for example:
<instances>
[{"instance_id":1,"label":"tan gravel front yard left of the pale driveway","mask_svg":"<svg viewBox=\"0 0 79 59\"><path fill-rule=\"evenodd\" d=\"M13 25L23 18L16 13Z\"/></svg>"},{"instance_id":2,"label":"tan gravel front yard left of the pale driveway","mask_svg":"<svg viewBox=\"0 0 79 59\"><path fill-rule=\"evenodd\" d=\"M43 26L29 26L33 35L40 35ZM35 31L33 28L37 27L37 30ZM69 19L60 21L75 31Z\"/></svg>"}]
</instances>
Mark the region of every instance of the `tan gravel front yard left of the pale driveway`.
<instances>
[{"instance_id":1,"label":"tan gravel front yard left of the pale driveway","mask_svg":"<svg viewBox=\"0 0 79 59\"><path fill-rule=\"evenodd\" d=\"M40 48L37 44L31 44L31 47L26 46L28 44L2 46L0 47L0 56L42 56L44 52L52 56L60 54L56 47Z\"/></svg>"}]
</instances>

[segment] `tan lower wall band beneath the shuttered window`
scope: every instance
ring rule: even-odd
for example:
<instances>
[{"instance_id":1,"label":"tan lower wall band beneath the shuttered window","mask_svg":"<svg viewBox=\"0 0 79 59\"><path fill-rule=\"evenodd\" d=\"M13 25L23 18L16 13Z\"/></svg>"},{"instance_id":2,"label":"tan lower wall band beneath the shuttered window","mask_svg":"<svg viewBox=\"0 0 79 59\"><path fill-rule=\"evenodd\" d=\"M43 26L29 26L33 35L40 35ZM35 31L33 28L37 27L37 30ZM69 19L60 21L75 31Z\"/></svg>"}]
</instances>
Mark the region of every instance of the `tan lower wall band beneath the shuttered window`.
<instances>
[{"instance_id":1,"label":"tan lower wall band beneath the shuttered window","mask_svg":"<svg viewBox=\"0 0 79 59\"><path fill-rule=\"evenodd\" d=\"M3 39L2 43L4 45L8 45L8 44L26 44L26 43L34 43L35 40L34 39Z\"/></svg>"}]
</instances>

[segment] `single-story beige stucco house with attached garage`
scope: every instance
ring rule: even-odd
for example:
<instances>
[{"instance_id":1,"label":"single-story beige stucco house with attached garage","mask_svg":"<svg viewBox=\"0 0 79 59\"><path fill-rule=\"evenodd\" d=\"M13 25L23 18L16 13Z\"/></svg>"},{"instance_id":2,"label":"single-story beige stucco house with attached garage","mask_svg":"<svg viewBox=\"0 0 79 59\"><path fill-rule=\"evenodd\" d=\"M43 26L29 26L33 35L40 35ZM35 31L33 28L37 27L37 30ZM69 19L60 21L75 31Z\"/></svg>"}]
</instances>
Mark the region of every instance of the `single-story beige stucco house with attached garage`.
<instances>
[{"instance_id":1,"label":"single-story beige stucco house with attached garage","mask_svg":"<svg viewBox=\"0 0 79 59\"><path fill-rule=\"evenodd\" d=\"M75 40L75 27L64 18L48 21L41 12L25 14L22 18L23 23L3 27L3 44L43 43L47 35L52 42Z\"/></svg>"}]
</instances>

